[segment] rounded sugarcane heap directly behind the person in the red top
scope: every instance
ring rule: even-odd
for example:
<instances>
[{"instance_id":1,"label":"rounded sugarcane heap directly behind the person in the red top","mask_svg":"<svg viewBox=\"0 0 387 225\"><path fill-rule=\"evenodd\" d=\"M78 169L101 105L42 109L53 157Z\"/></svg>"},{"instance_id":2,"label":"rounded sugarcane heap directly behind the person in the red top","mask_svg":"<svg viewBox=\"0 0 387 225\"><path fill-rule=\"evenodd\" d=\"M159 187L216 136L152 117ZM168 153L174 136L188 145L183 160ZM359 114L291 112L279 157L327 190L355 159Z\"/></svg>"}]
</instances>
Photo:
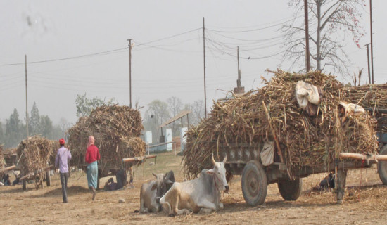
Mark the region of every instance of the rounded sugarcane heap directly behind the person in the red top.
<instances>
[{"instance_id":1,"label":"rounded sugarcane heap directly behind the person in the red top","mask_svg":"<svg viewBox=\"0 0 387 225\"><path fill-rule=\"evenodd\" d=\"M120 167L122 158L145 154L145 150L130 148L129 145L130 139L139 137L143 129L139 110L119 105L96 108L89 117L81 117L69 130L70 164L85 164L84 154L92 135L101 155L101 167Z\"/></svg>"}]
</instances>

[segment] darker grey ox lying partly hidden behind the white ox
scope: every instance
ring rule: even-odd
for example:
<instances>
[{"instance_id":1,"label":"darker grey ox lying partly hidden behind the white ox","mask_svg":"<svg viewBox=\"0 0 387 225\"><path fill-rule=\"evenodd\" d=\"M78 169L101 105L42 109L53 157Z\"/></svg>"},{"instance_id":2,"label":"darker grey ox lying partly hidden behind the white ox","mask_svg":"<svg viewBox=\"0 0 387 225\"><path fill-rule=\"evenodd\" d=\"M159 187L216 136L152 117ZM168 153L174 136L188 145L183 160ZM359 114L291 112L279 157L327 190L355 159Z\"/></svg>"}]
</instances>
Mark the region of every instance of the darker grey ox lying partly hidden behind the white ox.
<instances>
[{"instance_id":1,"label":"darker grey ox lying partly hidden behind the white ox","mask_svg":"<svg viewBox=\"0 0 387 225\"><path fill-rule=\"evenodd\" d=\"M153 174L153 173L152 173ZM134 212L159 212L161 205L160 197L163 196L175 182L173 171L166 174L153 174L156 180L144 183L140 190L140 210Z\"/></svg>"}]
</instances>

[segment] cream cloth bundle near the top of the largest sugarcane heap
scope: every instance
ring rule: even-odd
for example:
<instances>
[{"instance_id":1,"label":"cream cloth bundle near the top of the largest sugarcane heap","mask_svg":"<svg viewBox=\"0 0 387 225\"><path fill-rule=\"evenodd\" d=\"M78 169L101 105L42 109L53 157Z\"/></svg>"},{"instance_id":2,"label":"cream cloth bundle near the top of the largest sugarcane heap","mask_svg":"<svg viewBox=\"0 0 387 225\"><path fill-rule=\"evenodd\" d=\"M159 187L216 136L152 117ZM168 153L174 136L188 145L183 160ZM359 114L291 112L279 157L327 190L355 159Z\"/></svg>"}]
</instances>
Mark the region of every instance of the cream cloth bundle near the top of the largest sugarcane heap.
<instances>
[{"instance_id":1,"label":"cream cloth bundle near the top of the largest sugarcane heap","mask_svg":"<svg viewBox=\"0 0 387 225\"><path fill-rule=\"evenodd\" d=\"M312 84L300 80L296 84L296 98L298 105L305 110L309 115L317 113L317 105L320 101L319 88Z\"/></svg>"}]
</instances>

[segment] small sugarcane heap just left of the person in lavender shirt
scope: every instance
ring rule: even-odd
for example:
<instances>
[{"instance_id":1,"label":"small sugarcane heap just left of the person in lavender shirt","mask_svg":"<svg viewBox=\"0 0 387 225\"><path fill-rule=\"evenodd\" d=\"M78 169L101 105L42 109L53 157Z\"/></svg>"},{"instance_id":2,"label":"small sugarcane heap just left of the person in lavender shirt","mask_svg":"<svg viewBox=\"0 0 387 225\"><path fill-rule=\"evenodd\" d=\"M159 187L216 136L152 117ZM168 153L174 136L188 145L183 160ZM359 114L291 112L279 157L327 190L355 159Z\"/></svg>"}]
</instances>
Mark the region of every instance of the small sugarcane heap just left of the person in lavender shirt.
<instances>
[{"instance_id":1,"label":"small sugarcane heap just left of the person in lavender shirt","mask_svg":"<svg viewBox=\"0 0 387 225\"><path fill-rule=\"evenodd\" d=\"M20 142L18 149L20 157L19 165L22 167L21 174L27 175L37 171L42 171L49 166L52 154L50 141L41 136L32 136ZM40 174L39 179L43 179Z\"/></svg>"}]
</instances>

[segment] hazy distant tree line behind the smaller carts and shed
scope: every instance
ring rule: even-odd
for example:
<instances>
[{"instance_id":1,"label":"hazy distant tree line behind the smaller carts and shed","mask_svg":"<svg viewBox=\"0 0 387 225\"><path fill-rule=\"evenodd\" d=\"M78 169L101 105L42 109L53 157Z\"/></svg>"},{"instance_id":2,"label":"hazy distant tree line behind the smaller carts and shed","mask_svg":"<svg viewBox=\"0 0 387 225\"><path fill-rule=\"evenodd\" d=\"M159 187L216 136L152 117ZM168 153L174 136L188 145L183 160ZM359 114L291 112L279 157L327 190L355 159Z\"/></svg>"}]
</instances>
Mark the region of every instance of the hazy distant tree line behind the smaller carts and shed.
<instances>
[{"instance_id":1,"label":"hazy distant tree line behind the smaller carts and shed","mask_svg":"<svg viewBox=\"0 0 387 225\"><path fill-rule=\"evenodd\" d=\"M75 105L77 108L76 115L78 117L88 116L92 110L101 105L113 105L114 98L108 101L100 98L87 98L86 94L77 95ZM167 101L154 100L148 104L148 109L144 115L143 123L145 131L152 131L153 143L158 142L161 130L158 128L163 122L166 122L172 117L175 117L182 110L191 110L189 113L189 124L186 117L182 120L177 120L168 125L172 129L172 136L180 135L180 127L189 127L196 125L204 115L204 103L202 100L194 101L194 103L183 104L180 98L172 96L167 98ZM53 124L48 115L40 115L37 104L34 103L30 115L28 115L28 131L29 136L40 135L50 140L58 140L65 137L65 132L70 128L67 120L62 118L58 124ZM165 127L163 129L165 135ZM26 119L20 118L16 108L13 113L6 119L5 124L0 122L0 145L4 144L5 148L17 147L18 144L27 137Z\"/></svg>"}]
</instances>

